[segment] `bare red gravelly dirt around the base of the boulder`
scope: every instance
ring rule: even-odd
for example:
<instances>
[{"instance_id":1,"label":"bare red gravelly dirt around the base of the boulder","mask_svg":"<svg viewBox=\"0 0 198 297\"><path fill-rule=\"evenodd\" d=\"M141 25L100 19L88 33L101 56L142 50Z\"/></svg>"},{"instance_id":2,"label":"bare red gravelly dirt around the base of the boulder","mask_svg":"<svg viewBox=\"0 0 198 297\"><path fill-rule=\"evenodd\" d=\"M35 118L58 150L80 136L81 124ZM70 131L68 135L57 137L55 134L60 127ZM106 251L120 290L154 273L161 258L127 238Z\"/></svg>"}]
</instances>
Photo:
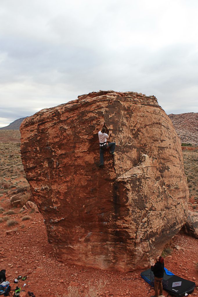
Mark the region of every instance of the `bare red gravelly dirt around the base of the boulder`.
<instances>
[{"instance_id":1,"label":"bare red gravelly dirt around the base of the boulder","mask_svg":"<svg viewBox=\"0 0 198 297\"><path fill-rule=\"evenodd\" d=\"M10 209L10 201L4 200L1 206ZM85 296L89 286L98 287L100 280L106 283L101 290L103 297L142 297L152 296L154 290L140 277L142 270L119 272L85 268L64 264L56 260L51 244L48 243L43 217L40 213L28 214L32 218L22 221L27 213L10 215L18 225L7 227L1 223L0 268L6 268L7 280L12 290L16 287L14 279L19 275L27 276L18 285L23 290L34 292L36 297L61 296L67 294L68 286L77 286L79 296ZM0 215L3 218L3 215ZM23 225L23 228L21 228ZM6 235L6 230L15 230L13 235ZM198 244L197 239L179 233L172 241L171 256L165 258L165 267L180 277L198 283ZM55 295L58 293L58 295ZM164 296L168 294L163 291ZM192 296L197 296L195 288Z\"/></svg>"}]
</instances>

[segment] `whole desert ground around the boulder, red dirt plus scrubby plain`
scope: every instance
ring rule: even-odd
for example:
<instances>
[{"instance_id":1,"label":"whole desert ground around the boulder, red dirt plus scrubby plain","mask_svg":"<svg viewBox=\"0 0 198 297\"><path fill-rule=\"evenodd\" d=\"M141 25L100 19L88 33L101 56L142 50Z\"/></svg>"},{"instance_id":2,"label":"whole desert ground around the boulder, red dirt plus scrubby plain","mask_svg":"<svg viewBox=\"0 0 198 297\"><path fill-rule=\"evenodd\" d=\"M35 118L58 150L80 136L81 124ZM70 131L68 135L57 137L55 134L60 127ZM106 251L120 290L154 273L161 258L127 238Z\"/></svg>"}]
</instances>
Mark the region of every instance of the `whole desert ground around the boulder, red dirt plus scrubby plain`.
<instances>
[{"instance_id":1,"label":"whole desert ground around the boulder, red dirt plus scrubby plain","mask_svg":"<svg viewBox=\"0 0 198 297\"><path fill-rule=\"evenodd\" d=\"M140 277L140 270L112 272L56 260L42 215L36 211L23 212L10 203L8 192L28 185L20 157L20 136L14 136L10 134L5 141L0 133L0 270L6 269L11 294L16 287L14 279L21 275L27 276L18 283L21 290L34 292L36 297L152 296L154 290ZM189 209L198 211L198 150L183 150L183 159L190 191ZM6 232L10 230L13 234ZM180 232L172 238L163 255L166 268L198 284L197 239ZM163 293L168 296L166 291ZM192 296L198 296L198 287Z\"/></svg>"}]
</instances>

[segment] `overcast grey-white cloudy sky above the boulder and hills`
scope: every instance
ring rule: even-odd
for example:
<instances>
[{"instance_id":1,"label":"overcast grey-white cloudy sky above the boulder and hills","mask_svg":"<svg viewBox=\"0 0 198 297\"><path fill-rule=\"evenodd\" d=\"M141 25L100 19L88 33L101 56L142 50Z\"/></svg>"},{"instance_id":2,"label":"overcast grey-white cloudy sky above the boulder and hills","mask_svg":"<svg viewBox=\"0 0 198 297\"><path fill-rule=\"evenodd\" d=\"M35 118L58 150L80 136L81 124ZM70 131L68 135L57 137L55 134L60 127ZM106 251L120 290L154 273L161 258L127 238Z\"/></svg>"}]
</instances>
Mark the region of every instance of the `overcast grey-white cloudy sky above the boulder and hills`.
<instances>
[{"instance_id":1,"label":"overcast grey-white cloudy sky above the boulder and hills","mask_svg":"<svg viewBox=\"0 0 198 297\"><path fill-rule=\"evenodd\" d=\"M1 0L0 127L99 90L198 112L197 0Z\"/></svg>"}]
</instances>

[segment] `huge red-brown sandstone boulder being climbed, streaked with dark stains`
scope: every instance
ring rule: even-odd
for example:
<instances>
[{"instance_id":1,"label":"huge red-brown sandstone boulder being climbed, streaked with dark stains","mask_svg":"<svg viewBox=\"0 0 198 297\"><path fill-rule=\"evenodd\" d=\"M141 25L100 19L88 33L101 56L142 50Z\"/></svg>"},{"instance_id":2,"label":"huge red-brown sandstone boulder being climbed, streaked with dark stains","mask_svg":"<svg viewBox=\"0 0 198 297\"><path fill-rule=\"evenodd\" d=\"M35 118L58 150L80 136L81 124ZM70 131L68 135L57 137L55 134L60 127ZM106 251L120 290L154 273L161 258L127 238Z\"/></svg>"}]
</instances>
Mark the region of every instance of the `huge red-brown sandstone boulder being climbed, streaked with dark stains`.
<instances>
[{"instance_id":1,"label":"huge red-brown sandstone boulder being climbed, streaked with dark stains","mask_svg":"<svg viewBox=\"0 0 198 297\"><path fill-rule=\"evenodd\" d=\"M103 122L118 146L99 168ZM186 222L180 141L154 96L93 92L41 110L20 130L26 178L57 259L131 271Z\"/></svg>"}]
</instances>

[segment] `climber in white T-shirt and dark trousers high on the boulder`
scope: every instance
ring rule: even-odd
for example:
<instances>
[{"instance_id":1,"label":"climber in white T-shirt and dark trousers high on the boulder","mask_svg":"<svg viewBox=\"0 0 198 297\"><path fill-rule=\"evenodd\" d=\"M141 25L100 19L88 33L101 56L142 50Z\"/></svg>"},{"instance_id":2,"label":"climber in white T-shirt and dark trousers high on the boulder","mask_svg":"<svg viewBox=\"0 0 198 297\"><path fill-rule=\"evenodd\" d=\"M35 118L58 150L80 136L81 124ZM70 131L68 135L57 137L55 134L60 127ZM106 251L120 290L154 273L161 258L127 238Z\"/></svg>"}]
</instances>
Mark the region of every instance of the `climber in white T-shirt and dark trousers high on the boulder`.
<instances>
[{"instance_id":1,"label":"climber in white T-shirt and dark trousers high on the boulder","mask_svg":"<svg viewBox=\"0 0 198 297\"><path fill-rule=\"evenodd\" d=\"M104 149L110 148L109 154L114 155L115 150L115 142L107 143L107 139L111 132L109 131L109 135L106 134L106 128L104 127L105 123L102 125L100 131L98 132L98 138L100 142L100 167L104 165Z\"/></svg>"}]
</instances>

